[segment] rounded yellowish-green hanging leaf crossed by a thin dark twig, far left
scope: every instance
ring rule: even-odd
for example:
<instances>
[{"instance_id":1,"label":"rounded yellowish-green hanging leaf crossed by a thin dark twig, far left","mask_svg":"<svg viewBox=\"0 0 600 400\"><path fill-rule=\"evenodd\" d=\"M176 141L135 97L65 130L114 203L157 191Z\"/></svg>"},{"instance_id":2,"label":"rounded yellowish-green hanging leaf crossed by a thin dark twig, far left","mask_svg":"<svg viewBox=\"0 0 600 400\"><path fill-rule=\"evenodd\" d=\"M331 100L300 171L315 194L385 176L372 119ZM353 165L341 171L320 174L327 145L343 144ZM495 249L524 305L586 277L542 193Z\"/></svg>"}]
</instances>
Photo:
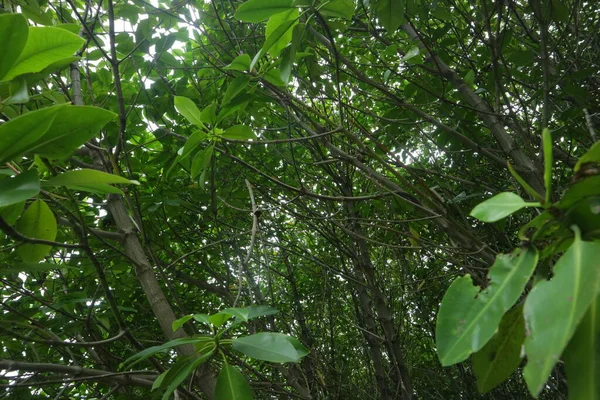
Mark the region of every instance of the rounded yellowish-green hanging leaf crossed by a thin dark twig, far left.
<instances>
[{"instance_id":1,"label":"rounded yellowish-green hanging leaf crossed by a thin dark twig, far left","mask_svg":"<svg viewBox=\"0 0 600 400\"><path fill-rule=\"evenodd\" d=\"M56 218L43 200L34 201L17 223L17 231L33 238L53 241L56 239ZM17 254L26 263L38 262L50 253L51 246L45 244L23 244Z\"/></svg>"}]
</instances>

